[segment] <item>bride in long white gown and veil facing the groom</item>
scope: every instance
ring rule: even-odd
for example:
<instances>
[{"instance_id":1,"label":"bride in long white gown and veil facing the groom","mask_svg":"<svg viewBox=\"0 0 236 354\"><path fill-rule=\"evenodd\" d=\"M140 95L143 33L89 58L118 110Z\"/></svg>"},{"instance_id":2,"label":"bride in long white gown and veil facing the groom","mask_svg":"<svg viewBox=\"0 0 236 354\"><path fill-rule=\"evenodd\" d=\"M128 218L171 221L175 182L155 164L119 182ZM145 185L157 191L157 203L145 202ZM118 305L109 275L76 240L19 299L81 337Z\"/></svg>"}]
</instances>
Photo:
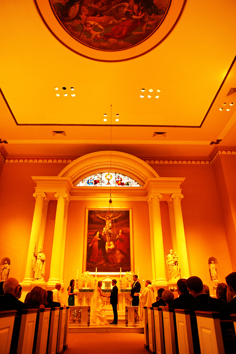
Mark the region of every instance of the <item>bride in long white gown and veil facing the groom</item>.
<instances>
[{"instance_id":1,"label":"bride in long white gown and veil facing the groom","mask_svg":"<svg viewBox=\"0 0 236 354\"><path fill-rule=\"evenodd\" d=\"M96 290L94 291L93 294L93 314L91 318L91 324L95 324L96 326L99 326L100 324L108 324L105 315L105 307L103 305L103 301L101 298L102 296L103 297L107 297L107 296L102 294L101 285L102 282L98 282L96 286Z\"/></svg>"}]
</instances>

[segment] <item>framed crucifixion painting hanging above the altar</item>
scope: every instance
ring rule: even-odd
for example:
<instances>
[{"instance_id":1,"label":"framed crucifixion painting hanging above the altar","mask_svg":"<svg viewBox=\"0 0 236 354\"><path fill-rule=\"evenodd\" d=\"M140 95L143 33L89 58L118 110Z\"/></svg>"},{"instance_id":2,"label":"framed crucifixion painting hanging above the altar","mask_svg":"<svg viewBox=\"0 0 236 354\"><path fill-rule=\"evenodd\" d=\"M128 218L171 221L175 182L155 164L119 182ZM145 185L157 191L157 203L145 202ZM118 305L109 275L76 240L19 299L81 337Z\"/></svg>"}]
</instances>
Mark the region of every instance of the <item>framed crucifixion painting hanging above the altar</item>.
<instances>
[{"instance_id":1,"label":"framed crucifixion painting hanging above the altar","mask_svg":"<svg viewBox=\"0 0 236 354\"><path fill-rule=\"evenodd\" d=\"M133 270L131 210L86 209L83 272Z\"/></svg>"}]
</instances>

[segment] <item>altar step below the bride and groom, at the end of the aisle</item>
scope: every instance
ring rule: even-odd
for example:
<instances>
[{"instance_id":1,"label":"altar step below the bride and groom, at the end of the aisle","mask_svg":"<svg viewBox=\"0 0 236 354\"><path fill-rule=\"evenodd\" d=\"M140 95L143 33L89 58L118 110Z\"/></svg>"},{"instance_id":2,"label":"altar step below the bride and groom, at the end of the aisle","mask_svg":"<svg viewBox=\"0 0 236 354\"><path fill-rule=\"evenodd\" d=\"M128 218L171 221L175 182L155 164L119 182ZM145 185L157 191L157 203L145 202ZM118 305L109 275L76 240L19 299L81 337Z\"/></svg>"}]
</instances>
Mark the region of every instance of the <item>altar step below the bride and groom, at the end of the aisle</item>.
<instances>
[{"instance_id":1,"label":"altar step below the bride and groom, at the end of the aisle","mask_svg":"<svg viewBox=\"0 0 236 354\"><path fill-rule=\"evenodd\" d=\"M81 327L79 325L69 325L69 333L144 333L143 327L126 327L124 323L107 324L104 326Z\"/></svg>"}]
</instances>

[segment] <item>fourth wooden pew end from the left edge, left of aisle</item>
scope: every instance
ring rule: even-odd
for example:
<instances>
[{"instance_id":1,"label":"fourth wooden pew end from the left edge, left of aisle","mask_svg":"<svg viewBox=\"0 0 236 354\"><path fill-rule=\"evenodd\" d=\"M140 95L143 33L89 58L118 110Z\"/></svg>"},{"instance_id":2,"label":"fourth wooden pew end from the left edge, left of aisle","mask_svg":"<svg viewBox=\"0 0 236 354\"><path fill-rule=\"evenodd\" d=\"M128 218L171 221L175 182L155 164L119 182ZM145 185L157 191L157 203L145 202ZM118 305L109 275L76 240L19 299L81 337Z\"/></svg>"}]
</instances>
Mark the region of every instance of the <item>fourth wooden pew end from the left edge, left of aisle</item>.
<instances>
[{"instance_id":1,"label":"fourth wooden pew end from the left edge, left of aisle","mask_svg":"<svg viewBox=\"0 0 236 354\"><path fill-rule=\"evenodd\" d=\"M59 312L60 307L53 307L51 309L48 331L47 354L56 354Z\"/></svg>"}]
</instances>

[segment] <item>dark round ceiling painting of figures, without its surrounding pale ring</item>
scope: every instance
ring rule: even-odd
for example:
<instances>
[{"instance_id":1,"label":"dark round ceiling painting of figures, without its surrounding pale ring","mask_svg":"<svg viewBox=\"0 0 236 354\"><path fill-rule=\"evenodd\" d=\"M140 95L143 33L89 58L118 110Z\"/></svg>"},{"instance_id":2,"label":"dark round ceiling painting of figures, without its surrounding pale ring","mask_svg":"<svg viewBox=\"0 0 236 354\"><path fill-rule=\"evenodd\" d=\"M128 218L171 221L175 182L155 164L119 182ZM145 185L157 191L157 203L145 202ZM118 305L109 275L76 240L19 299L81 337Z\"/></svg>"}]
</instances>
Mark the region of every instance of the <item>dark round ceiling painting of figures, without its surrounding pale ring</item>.
<instances>
[{"instance_id":1,"label":"dark round ceiling painting of figures, without its surrounding pale ring","mask_svg":"<svg viewBox=\"0 0 236 354\"><path fill-rule=\"evenodd\" d=\"M171 0L49 0L61 26L76 41L98 50L136 46L164 21Z\"/></svg>"}]
</instances>

